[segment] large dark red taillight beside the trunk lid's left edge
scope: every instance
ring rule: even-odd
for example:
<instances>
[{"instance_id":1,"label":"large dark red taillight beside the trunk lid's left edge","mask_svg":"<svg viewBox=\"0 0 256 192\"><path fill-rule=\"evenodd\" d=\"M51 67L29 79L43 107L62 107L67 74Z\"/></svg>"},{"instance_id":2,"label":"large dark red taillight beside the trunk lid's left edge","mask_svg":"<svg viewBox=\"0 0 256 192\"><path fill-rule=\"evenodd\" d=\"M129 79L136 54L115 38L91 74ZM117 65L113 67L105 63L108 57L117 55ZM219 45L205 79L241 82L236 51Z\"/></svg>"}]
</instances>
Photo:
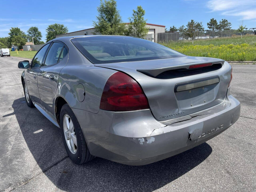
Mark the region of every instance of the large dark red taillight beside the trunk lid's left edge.
<instances>
[{"instance_id":1,"label":"large dark red taillight beside the trunk lid's left edge","mask_svg":"<svg viewBox=\"0 0 256 192\"><path fill-rule=\"evenodd\" d=\"M107 80L99 107L108 111L133 111L149 109L149 103L139 84L118 71Z\"/></svg>"}]
</instances>

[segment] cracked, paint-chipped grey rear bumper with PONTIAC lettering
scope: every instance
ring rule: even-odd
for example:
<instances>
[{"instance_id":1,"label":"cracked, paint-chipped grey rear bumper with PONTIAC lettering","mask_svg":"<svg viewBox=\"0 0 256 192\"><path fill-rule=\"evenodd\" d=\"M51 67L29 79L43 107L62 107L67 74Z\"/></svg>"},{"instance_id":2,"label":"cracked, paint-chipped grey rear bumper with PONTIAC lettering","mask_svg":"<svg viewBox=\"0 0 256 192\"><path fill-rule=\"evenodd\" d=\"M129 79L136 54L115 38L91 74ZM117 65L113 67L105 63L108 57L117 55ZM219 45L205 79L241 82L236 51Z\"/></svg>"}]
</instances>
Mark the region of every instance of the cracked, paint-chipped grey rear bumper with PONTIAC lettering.
<instances>
[{"instance_id":1,"label":"cracked, paint-chipped grey rear bumper with PONTIAC lettering","mask_svg":"<svg viewBox=\"0 0 256 192\"><path fill-rule=\"evenodd\" d=\"M200 145L234 124L240 103L229 91L227 95L209 109L163 122L155 120L150 110L73 111L91 154L127 165L146 165Z\"/></svg>"}]
</instances>

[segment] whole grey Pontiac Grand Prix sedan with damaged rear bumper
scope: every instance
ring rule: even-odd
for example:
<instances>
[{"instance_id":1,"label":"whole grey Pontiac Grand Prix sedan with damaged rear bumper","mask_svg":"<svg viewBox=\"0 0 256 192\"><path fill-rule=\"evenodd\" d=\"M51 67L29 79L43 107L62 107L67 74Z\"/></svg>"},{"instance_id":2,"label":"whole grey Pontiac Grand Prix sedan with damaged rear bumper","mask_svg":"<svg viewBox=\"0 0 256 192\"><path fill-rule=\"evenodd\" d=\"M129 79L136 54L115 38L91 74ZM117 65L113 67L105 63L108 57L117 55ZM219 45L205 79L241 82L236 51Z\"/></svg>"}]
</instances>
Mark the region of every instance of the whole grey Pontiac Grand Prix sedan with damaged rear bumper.
<instances>
[{"instance_id":1,"label":"whole grey Pontiac Grand Prix sedan with damaged rear bumper","mask_svg":"<svg viewBox=\"0 0 256 192\"><path fill-rule=\"evenodd\" d=\"M76 164L159 161L217 136L240 114L228 62L139 38L61 37L18 67L27 105L61 128Z\"/></svg>"}]
</instances>

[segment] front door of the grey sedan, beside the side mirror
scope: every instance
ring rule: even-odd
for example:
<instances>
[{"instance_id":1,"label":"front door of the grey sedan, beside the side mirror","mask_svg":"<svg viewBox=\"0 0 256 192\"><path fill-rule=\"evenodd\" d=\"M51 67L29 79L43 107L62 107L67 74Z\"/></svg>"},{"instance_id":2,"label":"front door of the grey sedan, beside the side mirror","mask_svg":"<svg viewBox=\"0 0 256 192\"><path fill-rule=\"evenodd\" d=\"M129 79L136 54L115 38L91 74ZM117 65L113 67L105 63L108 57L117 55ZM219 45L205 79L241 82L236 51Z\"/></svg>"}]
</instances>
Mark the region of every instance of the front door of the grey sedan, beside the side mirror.
<instances>
[{"instance_id":1,"label":"front door of the grey sedan, beside the side mirror","mask_svg":"<svg viewBox=\"0 0 256 192\"><path fill-rule=\"evenodd\" d=\"M50 43L46 44L37 52L37 54L34 56L33 60L30 63L30 68L25 70L25 81L30 98L39 104L41 103L41 101L38 93L37 73L40 70L40 67L43 63L43 58L49 45Z\"/></svg>"}]
</instances>

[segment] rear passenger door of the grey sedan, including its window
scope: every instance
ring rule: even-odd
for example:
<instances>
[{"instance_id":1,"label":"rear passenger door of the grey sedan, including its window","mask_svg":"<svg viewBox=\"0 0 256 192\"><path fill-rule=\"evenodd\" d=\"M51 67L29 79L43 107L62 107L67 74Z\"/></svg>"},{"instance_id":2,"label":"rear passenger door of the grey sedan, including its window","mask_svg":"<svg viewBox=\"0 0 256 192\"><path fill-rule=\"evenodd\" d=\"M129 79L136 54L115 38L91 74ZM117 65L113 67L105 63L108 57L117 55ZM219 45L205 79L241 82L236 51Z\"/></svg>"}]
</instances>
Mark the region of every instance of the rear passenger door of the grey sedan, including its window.
<instances>
[{"instance_id":1,"label":"rear passenger door of the grey sedan, including its window","mask_svg":"<svg viewBox=\"0 0 256 192\"><path fill-rule=\"evenodd\" d=\"M59 73L67 63L67 53L68 49L62 42L54 41L37 75L38 92L42 105L53 117L55 117L54 96L58 88Z\"/></svg>"}]
</instances>

